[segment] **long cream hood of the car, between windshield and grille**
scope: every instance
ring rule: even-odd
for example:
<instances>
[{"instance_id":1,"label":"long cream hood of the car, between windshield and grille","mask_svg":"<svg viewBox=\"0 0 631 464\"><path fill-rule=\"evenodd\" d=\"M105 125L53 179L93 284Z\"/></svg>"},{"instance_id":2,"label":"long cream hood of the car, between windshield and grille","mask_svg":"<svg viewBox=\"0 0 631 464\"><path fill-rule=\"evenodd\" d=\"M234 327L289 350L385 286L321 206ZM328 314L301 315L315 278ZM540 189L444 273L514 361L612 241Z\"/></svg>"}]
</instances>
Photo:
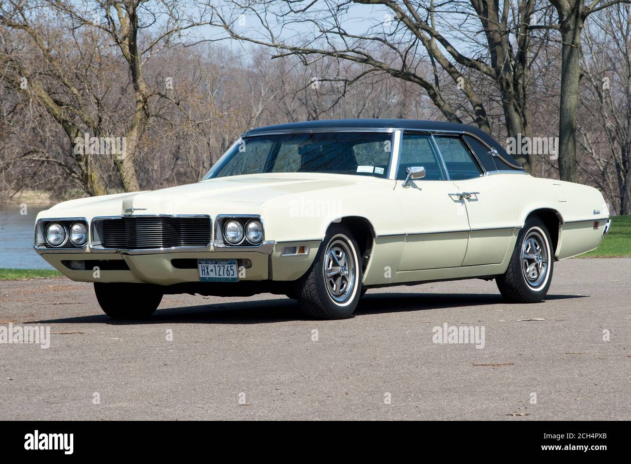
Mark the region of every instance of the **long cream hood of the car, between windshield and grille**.
<instances>
[{"instance_id":1,"label":"long cream hood of the car, between windshield and grille","mask_svg":"<svg viewBox=\"0 0 631 464\"><path fill-rule=\"evenodd\" d=\"M204 180L148 192L103 195L60 203L40 213L46 217L117 216L120 214L249 214L279 197L321 194L352 185L392 182L369 176L269 173ZM67 214L66 214L67 212Z\"/></svg>"}]
</instances>

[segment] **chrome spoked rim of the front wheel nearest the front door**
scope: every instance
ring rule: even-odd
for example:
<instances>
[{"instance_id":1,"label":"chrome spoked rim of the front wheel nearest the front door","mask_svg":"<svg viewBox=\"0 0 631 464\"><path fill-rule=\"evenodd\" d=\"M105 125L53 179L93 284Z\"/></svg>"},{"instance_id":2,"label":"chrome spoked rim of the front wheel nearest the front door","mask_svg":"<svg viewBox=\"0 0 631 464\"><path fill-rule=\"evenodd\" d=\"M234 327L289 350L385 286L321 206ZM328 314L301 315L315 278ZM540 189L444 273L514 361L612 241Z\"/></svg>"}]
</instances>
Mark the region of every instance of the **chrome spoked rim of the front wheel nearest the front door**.
<instances>
[{"instance_id":1,"label":"chrome spoked rim of the front wheel nearest the front door","mask_svg":"<svg viewBox=\"0 0 631 464\"><path fill-rule=\"evenodd\" d=\"M333 240L324 254L324 283L336 303L344 303L355 289L355 259L350 246L343 240Z\"/></svg>"}]
</instances>

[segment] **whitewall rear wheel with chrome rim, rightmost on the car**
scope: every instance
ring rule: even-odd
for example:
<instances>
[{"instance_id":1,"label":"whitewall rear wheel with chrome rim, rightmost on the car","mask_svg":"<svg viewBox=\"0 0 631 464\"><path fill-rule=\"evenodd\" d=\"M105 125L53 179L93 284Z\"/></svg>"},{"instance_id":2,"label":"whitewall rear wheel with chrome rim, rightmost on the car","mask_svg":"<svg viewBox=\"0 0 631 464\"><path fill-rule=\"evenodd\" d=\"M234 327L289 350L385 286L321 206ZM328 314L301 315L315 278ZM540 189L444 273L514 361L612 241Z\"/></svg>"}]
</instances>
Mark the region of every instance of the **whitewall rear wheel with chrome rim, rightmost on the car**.
<instances>
[{"instance_id":1,"label":"whitewall rear wheel with chrome rim, rightmost on the car","mask_svg":"<svg viewBox=\"0 0 631 464\"><path fill-rule=\"evenodd\" d=\"M550 244L550 233L543 221L538 217L528 219L517 236L508 269L495 279L505 299L536 303L545 298L554 263Z\"/></svg>"}]
</instances>

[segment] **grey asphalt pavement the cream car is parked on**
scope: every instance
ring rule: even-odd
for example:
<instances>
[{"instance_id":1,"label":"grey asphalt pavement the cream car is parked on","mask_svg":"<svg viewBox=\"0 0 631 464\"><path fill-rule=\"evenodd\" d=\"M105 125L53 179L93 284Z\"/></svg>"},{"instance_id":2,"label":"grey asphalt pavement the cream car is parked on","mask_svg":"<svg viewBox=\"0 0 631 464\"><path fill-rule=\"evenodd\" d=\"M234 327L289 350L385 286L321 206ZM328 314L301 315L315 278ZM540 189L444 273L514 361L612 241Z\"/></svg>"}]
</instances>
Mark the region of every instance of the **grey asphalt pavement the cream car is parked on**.
<instances>
[{"instance_id":1,"label":"grey asphalt pavement the cream car is parked on","mask_svg":"<svg viewBox=\"0 0 631 464\"><path fill-rule=\"evenodd\" d=\"M0 343L0 420L628 420L630 277L631 258L574 258L542 303L439 282L370 290L339 321L261 294L116 322L91 284L0 282L0 335L50 330Z\"/></svg>"}]
</instances>

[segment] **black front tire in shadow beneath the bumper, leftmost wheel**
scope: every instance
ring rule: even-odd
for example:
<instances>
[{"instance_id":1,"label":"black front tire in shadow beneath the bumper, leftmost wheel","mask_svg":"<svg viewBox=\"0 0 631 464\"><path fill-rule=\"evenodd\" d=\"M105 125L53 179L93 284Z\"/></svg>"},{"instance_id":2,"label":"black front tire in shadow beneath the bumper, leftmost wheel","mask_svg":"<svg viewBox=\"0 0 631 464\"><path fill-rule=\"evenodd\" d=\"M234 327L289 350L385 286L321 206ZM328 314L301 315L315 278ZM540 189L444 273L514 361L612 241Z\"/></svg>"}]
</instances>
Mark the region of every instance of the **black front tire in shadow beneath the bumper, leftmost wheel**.
<instances>
[{"instance_id":1,"label":"black front tire in shadow beneath the bumper, leftmost wheel","mask_svg":"<svg viewBox=\"0 0 631 464\"><path fill-rule=\"evenodd\" d=\"M112 319L144 319L162 301L162 292L149 284L104 284L94 282L99 306Z\"/></svg>"}]
</instances>

